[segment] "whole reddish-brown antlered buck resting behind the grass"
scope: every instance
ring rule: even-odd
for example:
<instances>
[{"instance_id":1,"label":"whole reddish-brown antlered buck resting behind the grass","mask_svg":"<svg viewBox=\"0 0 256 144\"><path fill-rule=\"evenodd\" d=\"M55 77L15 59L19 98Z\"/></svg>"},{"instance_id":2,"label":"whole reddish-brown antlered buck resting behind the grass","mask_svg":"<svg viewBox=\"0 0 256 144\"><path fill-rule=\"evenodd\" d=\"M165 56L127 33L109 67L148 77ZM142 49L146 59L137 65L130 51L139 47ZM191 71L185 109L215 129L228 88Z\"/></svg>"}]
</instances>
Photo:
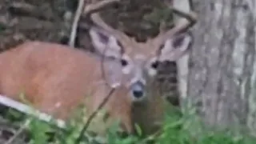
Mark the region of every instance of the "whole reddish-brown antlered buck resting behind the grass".
<instances>
[{"instance_id":1,"label":"whole reddish-brown antlered buck resting behind the grass","mask_svg":"<svg viewBox=\"0 0 256 144\"><path fill-rule=\"evenodd\" d=\"M195 19L194 13L187 15ZM141 43L106 25L97 13L90 18L95 54L50 42L25 42L0 54L0 94L22 102L18 97L22 92L36 109L66 120L81 103L91 114L116 88L103 107L107 121L120 118L128 133L134 123L145 134L157 130L164 98L148 94L152 89L148 83L159 62L186 54L191 37L182 31L192 22L182 19L171 30Z\"/></svg>"}]
</instances>

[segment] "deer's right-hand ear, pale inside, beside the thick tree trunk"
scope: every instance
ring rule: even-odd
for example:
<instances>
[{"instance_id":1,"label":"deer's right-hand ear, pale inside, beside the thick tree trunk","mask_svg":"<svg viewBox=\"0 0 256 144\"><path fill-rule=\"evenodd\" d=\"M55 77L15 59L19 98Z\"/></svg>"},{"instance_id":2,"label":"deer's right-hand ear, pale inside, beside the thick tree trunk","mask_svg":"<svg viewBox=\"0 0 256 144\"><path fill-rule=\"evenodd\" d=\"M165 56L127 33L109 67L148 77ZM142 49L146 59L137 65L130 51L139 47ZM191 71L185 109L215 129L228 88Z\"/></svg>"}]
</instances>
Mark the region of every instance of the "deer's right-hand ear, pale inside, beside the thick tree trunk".
<instances>
[{"instance_id":1,"label":"deer's right-hand ear, pale inside, beside the thick tree trunk","mask_svg":"<svg viewBox=\"0 0 256 144\"><path fill-rule=\"evenodd\" d=\"M174 38L169 38L163 45L160 53L160 61L176 61L181 58L192 42L192 35L189 33L174 35Z\"/></svg>"}]
</instances>

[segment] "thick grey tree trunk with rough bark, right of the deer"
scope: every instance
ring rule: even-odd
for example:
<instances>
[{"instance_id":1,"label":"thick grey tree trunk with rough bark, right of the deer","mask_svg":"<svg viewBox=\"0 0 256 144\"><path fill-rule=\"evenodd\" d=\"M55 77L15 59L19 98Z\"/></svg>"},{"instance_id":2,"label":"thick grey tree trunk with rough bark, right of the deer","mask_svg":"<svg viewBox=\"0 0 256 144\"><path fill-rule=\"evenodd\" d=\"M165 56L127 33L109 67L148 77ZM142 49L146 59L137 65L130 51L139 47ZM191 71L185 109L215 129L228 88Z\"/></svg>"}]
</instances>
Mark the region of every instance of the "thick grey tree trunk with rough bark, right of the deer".
<instances>
[{"instance_id":1,"label":"thick grey tree trunk with rough bark, right of the deer","mask_svg":"<svg viewBox=\"0 0 256 144\"><path fill-rule=\"evenodd\" d=\"M256 130L255 0L194 0L187 96L210 124Z\"/></svg>"}]
</instances>

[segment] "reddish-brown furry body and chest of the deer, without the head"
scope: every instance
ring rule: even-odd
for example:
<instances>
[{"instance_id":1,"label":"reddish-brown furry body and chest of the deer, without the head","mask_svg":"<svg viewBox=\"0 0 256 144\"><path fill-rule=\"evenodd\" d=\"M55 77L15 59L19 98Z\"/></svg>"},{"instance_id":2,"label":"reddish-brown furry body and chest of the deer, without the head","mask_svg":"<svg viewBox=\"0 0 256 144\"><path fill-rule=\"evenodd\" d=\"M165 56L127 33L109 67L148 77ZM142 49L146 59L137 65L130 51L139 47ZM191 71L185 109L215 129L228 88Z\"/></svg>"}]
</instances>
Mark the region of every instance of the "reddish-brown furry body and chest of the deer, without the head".
<instances>
[{"instance_id":1,"label":"reddish-brown furry body and chest of the deer, without the head","mask_svg":"<svg viewBox=\"0 0 256 144\"><path fill-rule=\"evenodd\" d=\"M25 42L0 54L0 94L21 101L18 94L24 92L35 108L56 118L70 118L82 103L90 114L109 91L94 54L48 42ZM163 111L160 97L152 96L146 105L134 106L122 86L114 91L105 108L109 121L121 118L129 133L133 131L132 122L150 131Z\"/></svg>"}]
</instances>

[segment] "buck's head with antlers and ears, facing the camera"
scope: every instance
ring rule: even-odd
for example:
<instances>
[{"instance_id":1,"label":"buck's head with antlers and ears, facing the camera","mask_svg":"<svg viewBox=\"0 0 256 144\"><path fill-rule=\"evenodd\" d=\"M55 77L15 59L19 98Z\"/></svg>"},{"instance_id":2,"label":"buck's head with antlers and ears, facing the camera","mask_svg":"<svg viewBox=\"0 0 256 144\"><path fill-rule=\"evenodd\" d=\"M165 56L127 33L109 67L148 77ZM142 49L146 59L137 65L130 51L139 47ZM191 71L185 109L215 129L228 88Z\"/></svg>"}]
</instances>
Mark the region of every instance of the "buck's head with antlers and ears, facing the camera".
<instances>
[{"instance_id":1,"label":"buck's head with antlers and ears, facing the camera","mask_svg":"<svg viewBox=\"0 0 256 144\"><path fill-rule=\"evenodd\" d=\"M136 42L134 38L107 25L98 13L90 14L94 26L90 27L89 34L96 53L120 64L122 77L117 82L130 90L134 102L146 98L146 83L157 74L159 62L176 61L190 47L192 36L186 30L194 24L196 15L174 11L186 16L186 19L181 19L174 28L162 31L146 42Z\"/></svg>"}]
</instances>

